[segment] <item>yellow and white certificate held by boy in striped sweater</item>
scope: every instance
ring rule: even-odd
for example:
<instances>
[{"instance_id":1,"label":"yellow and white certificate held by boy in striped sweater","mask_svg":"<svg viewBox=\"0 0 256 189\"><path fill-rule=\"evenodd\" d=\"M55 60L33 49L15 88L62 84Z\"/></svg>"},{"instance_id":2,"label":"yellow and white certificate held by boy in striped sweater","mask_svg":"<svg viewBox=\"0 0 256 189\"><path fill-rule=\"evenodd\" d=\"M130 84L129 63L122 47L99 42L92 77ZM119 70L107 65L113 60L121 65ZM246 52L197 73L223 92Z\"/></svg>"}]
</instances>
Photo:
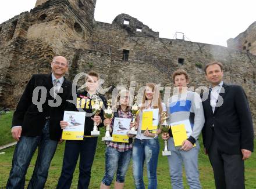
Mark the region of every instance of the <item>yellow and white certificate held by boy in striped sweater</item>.
<instances>
[{"instance_id":1,"label":"yellow and white certificate held by boy in striped sweater","mask_svg":"<svg viewBox=\"0 0 256 189\"><path fill-rule=\"evenodd\" d=\"M182 146L183 141L192 133L189 119L170 123L170 129L172 129L173 141L176 147Z\"/></svg>"}]
</instances>

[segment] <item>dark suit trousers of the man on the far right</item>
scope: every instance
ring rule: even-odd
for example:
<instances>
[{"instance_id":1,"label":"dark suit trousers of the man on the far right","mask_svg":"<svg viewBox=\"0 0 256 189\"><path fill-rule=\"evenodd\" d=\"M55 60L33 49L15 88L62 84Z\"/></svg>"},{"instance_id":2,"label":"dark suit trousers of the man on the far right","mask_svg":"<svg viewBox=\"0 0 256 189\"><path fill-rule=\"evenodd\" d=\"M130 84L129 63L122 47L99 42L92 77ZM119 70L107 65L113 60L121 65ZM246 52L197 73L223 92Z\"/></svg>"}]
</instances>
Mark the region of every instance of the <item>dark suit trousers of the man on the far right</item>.
<instances>
[{"instance_id":1,"label":"dark suit trousers of the man on the far right","mask_svg":"<svg viewBox=\"0 0 256 189\"><path fill-rule=\"evenodd\" d=\"M242 154L225 154L219 150L218 141L213 136L209 148L209 160L214 169L216 189L244 189L244 161Z\"/></svg>"}]
</instances>

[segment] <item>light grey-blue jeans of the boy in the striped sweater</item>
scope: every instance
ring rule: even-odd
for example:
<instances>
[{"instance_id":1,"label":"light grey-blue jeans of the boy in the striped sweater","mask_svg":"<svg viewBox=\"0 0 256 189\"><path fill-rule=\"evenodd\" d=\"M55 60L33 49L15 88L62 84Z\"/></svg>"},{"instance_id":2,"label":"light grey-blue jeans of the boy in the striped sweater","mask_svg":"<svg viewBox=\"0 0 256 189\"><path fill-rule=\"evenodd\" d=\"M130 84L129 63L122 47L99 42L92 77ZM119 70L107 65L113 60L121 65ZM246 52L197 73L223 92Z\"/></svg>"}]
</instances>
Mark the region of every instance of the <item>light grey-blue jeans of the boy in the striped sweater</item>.
<instances>
[{"instance_id":1,"label":"light grey-blue jeans of the boy in the striped sweater","mask_svg":"<svg viewBox=\"0 0 256 189\"><path fill-rule=\"evenodd\" d=\"M187 183L190 189L201 188L198 171L198 152L200 149L198 141L196 141L195 145L189 151L177 150L174 146L173 137L170 137L168 140L168 150L172 153L172 155L168 156L168 164L173 189L184 188L182 181L182 162L184 163Z\"/></svg>"}]
</instances>

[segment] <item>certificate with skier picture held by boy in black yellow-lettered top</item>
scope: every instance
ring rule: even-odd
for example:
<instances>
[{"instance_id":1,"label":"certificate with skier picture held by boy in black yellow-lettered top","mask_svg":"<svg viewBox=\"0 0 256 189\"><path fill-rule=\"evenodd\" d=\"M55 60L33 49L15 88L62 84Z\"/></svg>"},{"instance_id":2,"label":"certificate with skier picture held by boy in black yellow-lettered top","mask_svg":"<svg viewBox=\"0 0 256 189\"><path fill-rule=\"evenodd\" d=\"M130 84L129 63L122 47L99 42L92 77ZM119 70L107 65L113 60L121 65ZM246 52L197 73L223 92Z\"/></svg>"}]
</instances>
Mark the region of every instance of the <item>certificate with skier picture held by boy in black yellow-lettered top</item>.
<instances>
[{"instance_id":1,"label":"certificate with skier picture held by boy in black yellow-lettered top","mask_svg":"<svg viewBox=\"0 0 256 189\"><path fill-rule=\"evenodd\" d=\"M64 111L63 121L69 125L63 129L63 140L83 140L84 137L84 121L86 112Z\"/></svg>"}]
</instances>

